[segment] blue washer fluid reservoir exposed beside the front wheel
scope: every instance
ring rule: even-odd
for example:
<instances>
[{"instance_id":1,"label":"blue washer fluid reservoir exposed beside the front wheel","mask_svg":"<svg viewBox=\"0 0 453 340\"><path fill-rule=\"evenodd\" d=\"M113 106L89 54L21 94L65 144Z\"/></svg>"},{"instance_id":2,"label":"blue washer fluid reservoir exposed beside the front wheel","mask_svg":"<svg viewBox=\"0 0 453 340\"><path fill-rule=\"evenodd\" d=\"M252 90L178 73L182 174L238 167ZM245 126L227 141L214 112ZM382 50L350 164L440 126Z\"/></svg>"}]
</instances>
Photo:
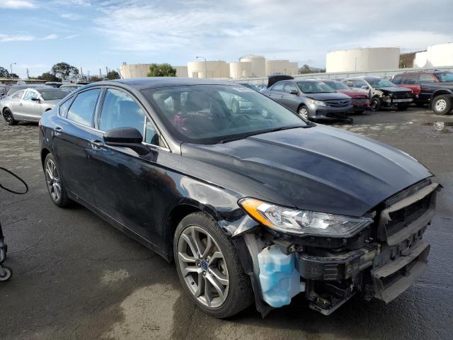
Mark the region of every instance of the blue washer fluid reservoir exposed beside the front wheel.
<instances>
[{"instance_id":1,"label":"blue washer fluid reservoir exposed beside the front wheel","mask_svg":"<svg viewBox=\"0 0 453 340\"><path fill-rule=\"evenodd\" d=\"M285 255L273 245L258 254L263 299L271 307L289 305L294 295L305 290L294 266L294 253Z\"/></svg>"}]
</instances>

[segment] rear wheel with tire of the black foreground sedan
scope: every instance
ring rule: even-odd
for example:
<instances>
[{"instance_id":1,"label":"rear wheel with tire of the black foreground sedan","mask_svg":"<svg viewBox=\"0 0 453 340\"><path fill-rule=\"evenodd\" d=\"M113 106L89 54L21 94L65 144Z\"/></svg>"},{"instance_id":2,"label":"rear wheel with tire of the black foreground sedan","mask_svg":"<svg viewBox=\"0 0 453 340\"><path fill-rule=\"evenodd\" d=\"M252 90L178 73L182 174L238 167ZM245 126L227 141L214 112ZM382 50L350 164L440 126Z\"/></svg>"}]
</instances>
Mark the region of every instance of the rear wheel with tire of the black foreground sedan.
<instances>
[{"instance_id":1,"label":"rear wheel with tire of the black foreground sedan","mask_svg":"<svg viewBox=\"0 0 453 340\"><path fill-rule=\"evenodd\" d=\"M47 191L49 191L50 199L59 208L65 208L71 200L62 181L62 176L57 169L57 162L52 154L47 154L44 161L45 181L47 184Z\"/></svg>"}]
</instances>

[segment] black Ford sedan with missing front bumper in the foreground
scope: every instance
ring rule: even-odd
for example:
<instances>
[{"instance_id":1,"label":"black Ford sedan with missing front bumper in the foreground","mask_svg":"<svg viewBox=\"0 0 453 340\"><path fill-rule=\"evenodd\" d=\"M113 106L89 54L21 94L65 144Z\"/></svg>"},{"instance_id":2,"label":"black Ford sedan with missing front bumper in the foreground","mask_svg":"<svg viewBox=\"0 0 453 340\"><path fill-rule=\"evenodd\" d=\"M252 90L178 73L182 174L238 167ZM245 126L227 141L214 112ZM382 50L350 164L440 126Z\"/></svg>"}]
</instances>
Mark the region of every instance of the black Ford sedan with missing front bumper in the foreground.
<instances>
[{"instance_id":1,"label":"black Ford sedan with missing front bumper in the foreground","mask_svg":"<svg viewBox=\"0 0 453 340\"><path fill-rule=\"evenodd\" d=\"M233 112L231 96L250 106ZM89 84L42 115L40 146L55 205L76 201L174 261L214 317L299 293L323 314L355 293L389 302L426 268L428 169L238 84Z\"/></svg>"}]
</instances>

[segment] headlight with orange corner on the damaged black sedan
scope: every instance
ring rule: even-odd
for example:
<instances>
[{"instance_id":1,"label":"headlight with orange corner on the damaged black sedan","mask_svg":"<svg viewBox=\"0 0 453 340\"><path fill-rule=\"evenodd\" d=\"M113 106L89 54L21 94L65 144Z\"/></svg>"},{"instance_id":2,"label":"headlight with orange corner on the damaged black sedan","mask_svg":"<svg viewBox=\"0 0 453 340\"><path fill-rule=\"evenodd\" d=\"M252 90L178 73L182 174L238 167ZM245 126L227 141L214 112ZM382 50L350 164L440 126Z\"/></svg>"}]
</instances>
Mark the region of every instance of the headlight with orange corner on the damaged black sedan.
<instances>
[{"instance_id":1,"label":"headlight with orange corner on the damaged black sedan","mask_svg":"<svg viewBox=\"0 0 453 340\"><path fill-rule=\"evenodd\" d=\"M351 237L372 223L371 218L295 210L255 198L243 198L239 205L261 224L290 234Z\"/></svg>"}]
</instances>

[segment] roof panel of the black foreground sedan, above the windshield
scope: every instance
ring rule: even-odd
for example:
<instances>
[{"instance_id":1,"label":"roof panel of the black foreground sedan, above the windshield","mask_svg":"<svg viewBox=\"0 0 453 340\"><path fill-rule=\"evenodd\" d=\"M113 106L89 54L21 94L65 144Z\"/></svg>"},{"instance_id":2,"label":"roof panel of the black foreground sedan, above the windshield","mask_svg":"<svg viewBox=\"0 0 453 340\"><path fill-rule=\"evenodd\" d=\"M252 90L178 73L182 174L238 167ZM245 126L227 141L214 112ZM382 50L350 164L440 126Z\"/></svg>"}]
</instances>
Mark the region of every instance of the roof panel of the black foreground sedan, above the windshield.
<instances>
[{"instance_id":1,"label":"roof panel of the black foreground sedan, above the windshield","mask_svg":"<svg viewBox=\"0 0 453 340\"><path fill-rule=\"evenodd\" d=\"M183 77L147 77L134 79L115 79L96 81L86 85L86 88L99 85L118 85L133 87L137 90L154 89L166 86L186 86L186 85L229 85L234 86L231 81L221 81L214 79L183 78Z\"/></svg>"}]
</instances>

